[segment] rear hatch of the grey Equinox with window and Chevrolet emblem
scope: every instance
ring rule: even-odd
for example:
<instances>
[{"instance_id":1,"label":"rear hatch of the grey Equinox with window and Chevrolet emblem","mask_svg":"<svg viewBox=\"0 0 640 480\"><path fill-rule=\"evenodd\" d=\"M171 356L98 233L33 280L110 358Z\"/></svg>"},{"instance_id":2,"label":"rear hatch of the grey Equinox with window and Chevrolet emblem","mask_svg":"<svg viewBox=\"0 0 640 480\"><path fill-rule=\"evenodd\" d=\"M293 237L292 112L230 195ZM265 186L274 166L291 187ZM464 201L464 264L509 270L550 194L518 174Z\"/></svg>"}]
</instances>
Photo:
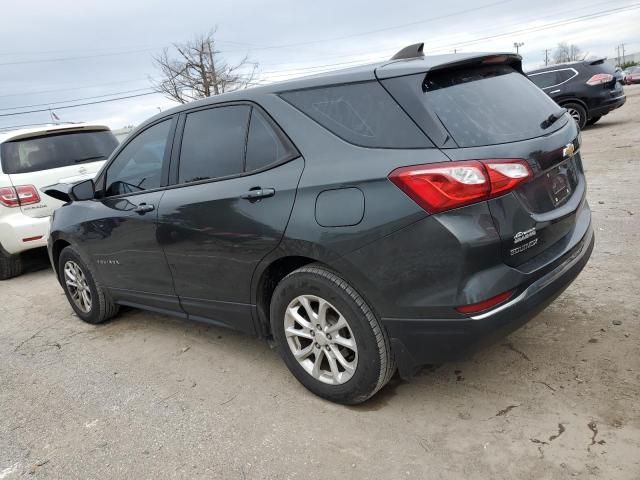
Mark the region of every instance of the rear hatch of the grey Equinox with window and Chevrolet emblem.
<instances>
[{"instance_id":1,"label":"rear hatch of the grey Equinox with window and Chevrolet emblem","mask_svg":"<svg viewBox=\"0 0 640 480\"><path fill-rule=\"evenodd\" d=\"M532 179L488 201L506 264L521 265L571 237L585 194L578 129L513 56L381 83L451 160L529 164Z\"/></svg>"}]
</instances>

